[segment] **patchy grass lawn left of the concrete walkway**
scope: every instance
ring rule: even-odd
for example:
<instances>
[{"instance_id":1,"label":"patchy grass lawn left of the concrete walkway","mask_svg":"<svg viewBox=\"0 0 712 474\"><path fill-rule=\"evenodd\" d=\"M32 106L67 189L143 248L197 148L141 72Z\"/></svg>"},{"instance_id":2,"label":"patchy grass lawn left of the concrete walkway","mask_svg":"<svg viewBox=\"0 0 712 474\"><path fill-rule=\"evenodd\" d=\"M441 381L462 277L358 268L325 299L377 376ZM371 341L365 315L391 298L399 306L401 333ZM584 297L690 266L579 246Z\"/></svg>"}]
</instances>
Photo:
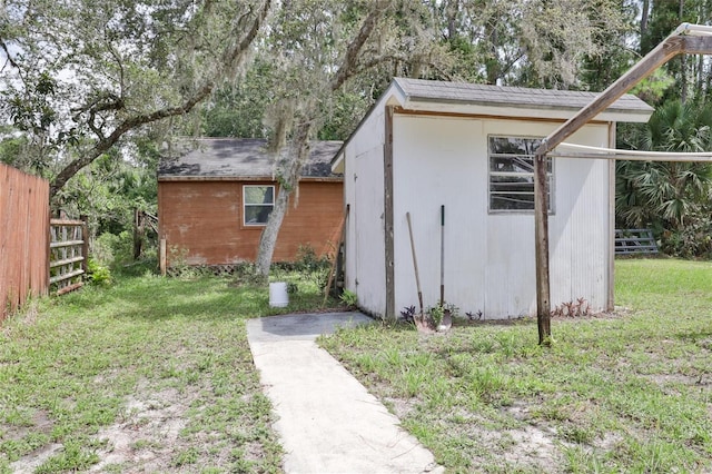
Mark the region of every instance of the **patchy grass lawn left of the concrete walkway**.
<instances>
[{"instance_id":1,"label":"patchy grass lawn left of the concrete walkway","mask_svg":"<svg viewBox=\"0 0 712 474\"><path fill-rule=\"evenodd\" d=\"M285 313L322 304L299 283ZM245 319L267 288L122 278L0 327L0 473L279 472Z\"/></svg>"}]
</instances>

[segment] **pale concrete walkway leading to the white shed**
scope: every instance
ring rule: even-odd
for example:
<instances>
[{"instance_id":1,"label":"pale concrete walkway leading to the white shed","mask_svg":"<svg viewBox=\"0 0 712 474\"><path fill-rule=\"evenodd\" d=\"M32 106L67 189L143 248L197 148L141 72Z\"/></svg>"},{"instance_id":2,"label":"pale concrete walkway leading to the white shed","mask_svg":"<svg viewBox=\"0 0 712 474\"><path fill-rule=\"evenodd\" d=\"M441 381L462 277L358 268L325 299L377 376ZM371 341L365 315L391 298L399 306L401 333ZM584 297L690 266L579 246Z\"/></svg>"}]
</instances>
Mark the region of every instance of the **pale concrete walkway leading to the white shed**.
<instances>
[{"instance_id":1,"label":"pale concrete walkway leading to the white shed","mask_svg":"<svg viewBox=\"0 0 712 474\"><path fill-rule=\"evenodd\" d=\"M255 365L278 418L287 473L444 472L398 418L315 343L338 326L372 322L360 313L247 322Z\"/></svg>"}]
</instances>

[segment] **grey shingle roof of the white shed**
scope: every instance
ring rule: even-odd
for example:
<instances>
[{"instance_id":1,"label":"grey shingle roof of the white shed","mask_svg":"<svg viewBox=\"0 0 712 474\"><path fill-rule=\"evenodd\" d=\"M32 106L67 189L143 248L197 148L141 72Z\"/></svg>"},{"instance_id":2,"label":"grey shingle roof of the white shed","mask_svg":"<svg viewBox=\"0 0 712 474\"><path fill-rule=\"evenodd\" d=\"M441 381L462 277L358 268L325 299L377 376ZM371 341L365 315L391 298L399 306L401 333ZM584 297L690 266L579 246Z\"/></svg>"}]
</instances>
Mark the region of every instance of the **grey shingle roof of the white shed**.
<instances>
[{"instance_id":1,"label":"grey shingle roof of the white shed","mask_svg":"<svg viewBox=\"0 0 712 474\"><path fill-rule=\"evenodd\" d=\"M395 78L394 81L408 99L426 102L580 110L599 96L595 92L576 90L527 89L407 78ZM609 107L609 110L651 112L653 108L635 96L625 95Z\"/></svg>"}]
</instances>

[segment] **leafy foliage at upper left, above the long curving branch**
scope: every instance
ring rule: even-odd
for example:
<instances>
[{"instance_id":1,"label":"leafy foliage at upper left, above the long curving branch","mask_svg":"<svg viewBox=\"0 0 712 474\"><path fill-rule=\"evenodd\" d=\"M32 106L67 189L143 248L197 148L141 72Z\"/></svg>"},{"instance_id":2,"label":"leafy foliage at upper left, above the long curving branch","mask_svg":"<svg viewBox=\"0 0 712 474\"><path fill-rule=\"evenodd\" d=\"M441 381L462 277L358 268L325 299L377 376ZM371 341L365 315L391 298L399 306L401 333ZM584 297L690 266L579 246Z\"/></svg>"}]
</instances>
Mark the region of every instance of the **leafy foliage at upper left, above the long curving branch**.
<instances>
[{"instance_id":1,"label":"leafy foliage at upper left, above the long curving branch","mask_svg":"<svg viewBox=\"0 0 712 474\"><path fill-rule=\"evenodd\" d=\"M2 113L28 137L23 154L42 164L55 196L102 154L233 79L269 9L269 0L7 0Z\"/></svg>"}]
</instances>

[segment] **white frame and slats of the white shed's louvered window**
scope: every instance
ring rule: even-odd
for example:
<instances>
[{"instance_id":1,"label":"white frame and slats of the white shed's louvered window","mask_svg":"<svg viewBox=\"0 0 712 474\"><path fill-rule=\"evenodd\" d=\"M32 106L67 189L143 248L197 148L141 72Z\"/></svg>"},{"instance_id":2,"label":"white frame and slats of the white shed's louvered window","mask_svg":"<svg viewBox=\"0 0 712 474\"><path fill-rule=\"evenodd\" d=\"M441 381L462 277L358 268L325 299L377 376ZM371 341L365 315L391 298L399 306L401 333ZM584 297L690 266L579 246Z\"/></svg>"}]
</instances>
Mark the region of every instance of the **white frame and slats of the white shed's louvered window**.
<instances>
[{"instance_id":1,"label":"white frame and slats of the white shed's louvered window","mask_svg":"<svg viewBox=\"0 0 712 474\"><path fill-rule=\"evenodd\" d=\"M523 209L505 209L505 208L493 208L493 194L500 194L500 195L506 195L506 191L495 191L493 190L493 178L496 177L516 177L516 178L531 178L531 192L527 190L523 194L526 194L526 196L534 196L534 155L533 154L495 154L492 150L492 140L493 139L516 139L516 140L528 140L528 141L538 141L541 142L542 138L541 137L527 137L527 136L507 136L507 135L490 135L487 136L487 209L490 211L490 214L534 214L534 200L532 200L532 207L531 208L523 208ZM532 149L536 149L538 145L536 144L534 147L532 147ZM531 171L497 171L497 170L493 170L493 157L500 157L500 158L516 158L516 157L523 157L525 159L530 159L532 160L532 168ZM548 177L548 214L553 215L554 214L554 177L555 177L555 169L554 169L554 160L552 160L552 158L546 158L546 160L548 161L548 168L551 169L550 171L546 172L547 177ZM527 186L528 188L528 186ZM510 191L510 195L515 194L516 191Z\"/></svg>"}]
</instances>

